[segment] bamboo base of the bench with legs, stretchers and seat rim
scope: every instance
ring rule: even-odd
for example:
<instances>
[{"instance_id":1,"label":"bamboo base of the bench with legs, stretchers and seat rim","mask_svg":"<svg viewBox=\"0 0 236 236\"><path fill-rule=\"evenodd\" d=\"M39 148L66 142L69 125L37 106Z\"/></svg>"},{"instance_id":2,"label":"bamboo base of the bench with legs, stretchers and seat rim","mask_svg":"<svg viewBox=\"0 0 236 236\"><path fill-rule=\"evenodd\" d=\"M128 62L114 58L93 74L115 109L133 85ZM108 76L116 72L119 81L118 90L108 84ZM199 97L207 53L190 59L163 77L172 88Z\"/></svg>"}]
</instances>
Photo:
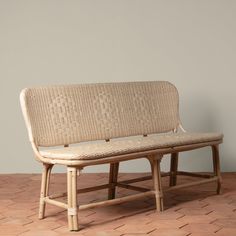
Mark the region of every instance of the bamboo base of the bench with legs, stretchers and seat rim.
<instances>
[{"instance_id":1,"label":"bamboo base of the bench with legs, stretchers and seat rim","mask_svg":"<svg viewBox=\"0 0 236 236\"><path fill-rule=\"evenodd\" d=\"M145 135L146 136L146 135ZM106 140L109 141L109 140ZM174 148L166 149L157 149L146 152L132 153L129 155L121 155L116 157L110 157L100 160L84 160L84 161L65 161L65 160L51 160L49 158L44 158L40 155L40 152L36 145L32 143L33 149L36 154L36 158L43 162L43 173L42 173L42 182L41 182L41 193L40 193L40 206L39 206L39 219L45 217L45 205L46 203L52 204L58 207L62 207L68 212L68 225L69 230L77 231L79 230L78 223L78 211L91 209L95 207L109 206L113 204L119 204L127 201L132 201L148 196L155 196L156 199L156 211L160 212L164 210L163 207L163 189L161 185L161 177L169 176L169 188L165 189L164 192L169 192L184 187L191 187L200 184L216 182L217 194L221 193L221 174L220 174L220 160L219 160L219 144L222 143L222 140L214 142L204 142L186 146L178 146ZM213 161L213 173L212 174L200 174L200 173L191 173L185 171L178 171L178 158L179 152L198 149L202 147L210 146L212 149L212 161ZM65 145L68 147L68 145ZM171 154L171 163L170 171L168 173L162 173L160 170L160 162L163 155ZM151 165L152 175L139 177L135 179L118 181L118 172L119 172L119 163L122 161L146 158ZM51 170L54 164L63 164L67 166L67 192L58 193L49 195L49 184L50 184L50 175ZM110 164L109 171L109 182L108 184L88 187L83 189L77 189L77 177L81 174L81 170L86 166L99 165L99 164ZM177 176L186 175L191 177L201 177L203 180L197 180L191 183L184 183L177 185ZM145 180L153 180L153 188L147 189L143 187L133 186L132 183L141 182ZM115 198L116 188L126 188L136 190L138 194L131 196L125 196L121 198ZM78 206L77 194L86 193L90 191L108 189L108 200L90 203L85 205ZM60 197L67 196L67 203L55 200Z\"/></svg>"}]
</instances>

